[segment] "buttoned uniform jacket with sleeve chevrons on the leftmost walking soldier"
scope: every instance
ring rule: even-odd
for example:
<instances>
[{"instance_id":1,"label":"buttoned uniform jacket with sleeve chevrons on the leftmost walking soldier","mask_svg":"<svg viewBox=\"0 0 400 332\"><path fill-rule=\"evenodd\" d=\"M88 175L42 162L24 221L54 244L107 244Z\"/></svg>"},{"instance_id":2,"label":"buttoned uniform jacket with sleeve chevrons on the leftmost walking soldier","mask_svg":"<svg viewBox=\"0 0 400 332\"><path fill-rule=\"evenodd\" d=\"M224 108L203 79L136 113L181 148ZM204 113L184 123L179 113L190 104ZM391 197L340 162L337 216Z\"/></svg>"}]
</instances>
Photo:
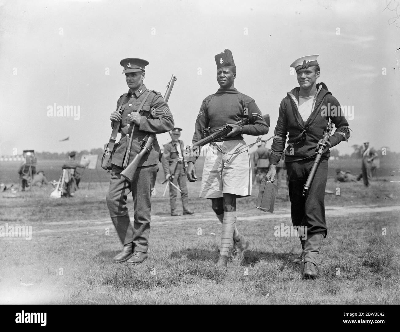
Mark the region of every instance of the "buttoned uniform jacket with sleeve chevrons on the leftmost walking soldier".
<instances>
[{"instance_id":1,"label":"buttoned uniform jacket with sleeve chevrons on the leftmost walking soldier","mask_svg":"<svg viewBox=\"0 0 400 332\"><path fill-rule=\"evenodd\" d=\"M134 93L129 90L126 98L121 96L120 99L118 99L117 110L120 103L123 103L123 106L121 108L122 120L120 121L120 128L118 130L122 137L112 155L112 163L116 166L122 167L124 163L124 156L128 149L131 135L133 135L133 138L128 163L131 162L142 149L140 143L146 135L151 133L166 133L174 128L172 113L160 93L151 91L142 109L138 109L149 91L151 90L148 90L145 85L142 85ZM130 122L130 113L136 111L140 112L142 115L139 125ZM139 163L139 167L157 165L159 161L161 161L160 146L158 145L157 137L154 137L153 147L150 153L144 155Z\"/></svg>"}]
</instances>

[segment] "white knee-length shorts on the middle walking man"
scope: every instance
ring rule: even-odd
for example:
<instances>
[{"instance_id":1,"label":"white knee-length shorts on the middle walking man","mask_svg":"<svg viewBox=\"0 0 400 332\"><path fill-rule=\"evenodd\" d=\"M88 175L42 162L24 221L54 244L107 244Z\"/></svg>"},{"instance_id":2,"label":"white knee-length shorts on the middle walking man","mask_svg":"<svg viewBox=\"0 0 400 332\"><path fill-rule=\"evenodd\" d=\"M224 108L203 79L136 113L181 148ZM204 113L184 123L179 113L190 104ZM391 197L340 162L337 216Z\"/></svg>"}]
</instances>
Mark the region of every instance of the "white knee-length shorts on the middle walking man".
<instances>
[{"instance_id":1,"label":"white knee-length shorts on the middle walking man","mask_svg":"<svg viewBox=\"0 0 400 332\"><path fill-rule=\"evenodd\" d=\"M246 148L246 143L239 139L210 144L204 161L200 197L218 198L224 197L224 193L251 196L252 172L248 151L229 155L218 151L215 145L226 153Z\"/></svg>"}]
</instances>

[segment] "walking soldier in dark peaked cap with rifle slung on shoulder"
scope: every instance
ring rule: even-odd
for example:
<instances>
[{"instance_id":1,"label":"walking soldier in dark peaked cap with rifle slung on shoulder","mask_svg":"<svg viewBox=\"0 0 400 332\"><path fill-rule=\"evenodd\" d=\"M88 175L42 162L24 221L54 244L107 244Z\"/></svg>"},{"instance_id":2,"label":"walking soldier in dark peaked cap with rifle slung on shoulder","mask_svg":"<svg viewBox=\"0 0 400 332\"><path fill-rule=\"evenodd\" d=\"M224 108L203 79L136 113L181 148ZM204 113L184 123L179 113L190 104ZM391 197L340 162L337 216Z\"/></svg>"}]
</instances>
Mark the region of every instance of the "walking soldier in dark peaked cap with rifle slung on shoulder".
<instances>
[{"instance_id":1,"label":"walking soldier in dark peaked cap with rifle slung on shoulder","mask_svg":"<svg viewBox=\"0 0 400 332\"><path fill-rule=\"evenodd\" d=\"M141 142L153 133L166 133L174 127L171 111L160 93L149 90L143 84L148 61L139 58L121 60L122 71L129 87L117 101L116 111L110 120L116 123L121 139L112 155L110 187L106 196L107 206L122 251L114 257L118 263L139 264L147 258L150 235L151 193L156 183L160 146L154 137L153 146L140 161L136 173L129 182L121 176L123 164L132 161L142 149ZM128 146L132 137L130 154ZM130 223L126 199L132 193L134 222Z\"/></svg>"}]
</instances>

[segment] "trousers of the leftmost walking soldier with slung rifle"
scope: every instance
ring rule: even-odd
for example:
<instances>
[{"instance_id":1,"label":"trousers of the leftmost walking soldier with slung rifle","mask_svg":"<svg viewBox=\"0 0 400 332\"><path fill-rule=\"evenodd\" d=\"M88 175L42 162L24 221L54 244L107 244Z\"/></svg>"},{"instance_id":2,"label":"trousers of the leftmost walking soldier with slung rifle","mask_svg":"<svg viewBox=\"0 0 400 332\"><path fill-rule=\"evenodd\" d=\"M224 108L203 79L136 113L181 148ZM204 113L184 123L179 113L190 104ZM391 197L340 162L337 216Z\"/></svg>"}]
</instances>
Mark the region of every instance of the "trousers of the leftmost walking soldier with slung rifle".
<instances>
[{"instance_id":1,"label":"trousers of the leftmost walking soldier with slung rifle","mask_svg":"<svg viewBox=\"0 0 400 332\"><path fill-rule=\"evenodd\" d=\"M123 168L112 165L110 187L106 196L108 210L122 244L134 243L134 250L147 252L150 235L151 194L156 183L158 165L138 167L132 182L121 176ZM133 227L126 199L132 192Z\"/></svg>"}]
</instances>

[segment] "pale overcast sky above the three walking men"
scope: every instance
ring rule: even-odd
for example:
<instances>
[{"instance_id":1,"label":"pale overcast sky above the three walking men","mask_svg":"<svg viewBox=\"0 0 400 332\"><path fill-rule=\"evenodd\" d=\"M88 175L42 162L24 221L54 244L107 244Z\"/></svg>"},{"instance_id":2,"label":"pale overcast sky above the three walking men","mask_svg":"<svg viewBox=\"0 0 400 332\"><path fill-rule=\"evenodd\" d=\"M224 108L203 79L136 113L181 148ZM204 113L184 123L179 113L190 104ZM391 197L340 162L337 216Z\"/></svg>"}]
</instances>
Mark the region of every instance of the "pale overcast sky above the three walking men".
<instances>
[{"instance_id":1,"label":"pale overcast sky above the three walking men","mask_svg":"<svg viewBox=\"0 0 400 332\"><path fill-rule=\"evenodd\" d=\"M168 104L189 144L202 100L218 89L214 55L225 48L236 89L270 114L265 138L280 101L298 86L290 64L319 54L318 82L354 107L340 153L364 141L400 151L399 1L392 10L387 2L0 1L0 155L103 147L110 113L128 91L120 66L128 57L150 62L144 82L162 95L176 75ZM79 107L79 119L48 117L54 103Z\"/></svg>"}]
</instances>

